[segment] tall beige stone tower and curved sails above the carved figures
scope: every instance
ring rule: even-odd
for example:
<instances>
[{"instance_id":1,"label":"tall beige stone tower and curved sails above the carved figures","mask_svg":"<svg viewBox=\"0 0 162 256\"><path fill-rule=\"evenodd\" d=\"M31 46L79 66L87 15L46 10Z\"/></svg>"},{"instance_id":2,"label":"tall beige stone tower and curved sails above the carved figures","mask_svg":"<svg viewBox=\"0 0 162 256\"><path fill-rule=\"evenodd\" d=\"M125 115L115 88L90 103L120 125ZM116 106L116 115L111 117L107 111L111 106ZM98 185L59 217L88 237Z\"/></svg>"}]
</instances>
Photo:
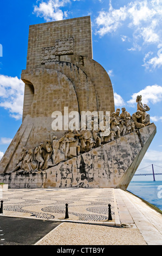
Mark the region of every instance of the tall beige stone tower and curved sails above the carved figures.
<instances>
[{"instance_id":1,"label":"tall beige stone tower and curved sails above the carved figures","mask_svg":"<svg viewBox=\"0 0 162 256\"><path fill-rule=\"evenodd\" d=\"M51 124L54 111L114 111L111 80L92 59L90 17L30 26L23 122L0 162L0 173L12 172L22 147L35 148L58 137ZM58 58L55 58L58 57Z\"/></svg>"}]
</instances>

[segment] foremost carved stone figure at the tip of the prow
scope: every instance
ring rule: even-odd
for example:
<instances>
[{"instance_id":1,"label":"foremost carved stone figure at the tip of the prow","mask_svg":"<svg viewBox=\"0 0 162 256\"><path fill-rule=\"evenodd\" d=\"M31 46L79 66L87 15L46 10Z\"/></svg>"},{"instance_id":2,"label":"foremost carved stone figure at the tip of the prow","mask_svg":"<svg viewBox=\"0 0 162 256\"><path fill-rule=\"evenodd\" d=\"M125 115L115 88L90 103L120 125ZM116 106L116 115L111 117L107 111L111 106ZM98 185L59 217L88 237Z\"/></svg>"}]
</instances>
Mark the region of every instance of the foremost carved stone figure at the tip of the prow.
<instances>
[{"instance_id":1,"label":"foremost carved stone figure at the tip of the prow","mask_svg":"<svg viewBox=\"0 0 162 256\"><path fill-rule=\"evenodd\" d=\"M142 123L145 125L150 124L150 115L146 113L146 111L150 110L150 107L148 107L146 104L142 104L142 95L138 95L136 102L137 102L137 110L140 110L142 113Z\"/></svg>"}]
</instances>

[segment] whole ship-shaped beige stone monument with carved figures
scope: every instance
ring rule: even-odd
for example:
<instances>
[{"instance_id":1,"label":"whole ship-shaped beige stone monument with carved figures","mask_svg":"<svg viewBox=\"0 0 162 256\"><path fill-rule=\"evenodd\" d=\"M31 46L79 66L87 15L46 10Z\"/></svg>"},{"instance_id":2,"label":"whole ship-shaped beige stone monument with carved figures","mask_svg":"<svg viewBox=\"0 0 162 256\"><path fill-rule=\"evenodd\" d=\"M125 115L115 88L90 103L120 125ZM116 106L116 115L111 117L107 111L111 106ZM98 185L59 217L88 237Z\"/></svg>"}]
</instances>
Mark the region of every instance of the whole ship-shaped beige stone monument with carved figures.
<instances>
[{"instance_id":1,"label":"whole ship-shaped beige stone monument with carved figures","mask_svg":"<svg viewBox=\"0 0 162 256\"><path fill-rule=\"evenodd\" d=\"M10 188L125 190L156 127L150 124L146 114L150 108L142 105L141 95L132 116L125 108L121 114L120 109L115 112L111 80L93 60L90 16L30 26L27 67L21 79L25 84L22 125L0 162L0 182ZM90 130L81 123L87 111L110 113L107 136L100 127L95 129L94 117ZM57 122L61 129L54 129L60 113L63 124ZM84 129L67 127L69 113L78 113ZM102 119L104 123L105 115Z\"/></svg>"}]
</instances>

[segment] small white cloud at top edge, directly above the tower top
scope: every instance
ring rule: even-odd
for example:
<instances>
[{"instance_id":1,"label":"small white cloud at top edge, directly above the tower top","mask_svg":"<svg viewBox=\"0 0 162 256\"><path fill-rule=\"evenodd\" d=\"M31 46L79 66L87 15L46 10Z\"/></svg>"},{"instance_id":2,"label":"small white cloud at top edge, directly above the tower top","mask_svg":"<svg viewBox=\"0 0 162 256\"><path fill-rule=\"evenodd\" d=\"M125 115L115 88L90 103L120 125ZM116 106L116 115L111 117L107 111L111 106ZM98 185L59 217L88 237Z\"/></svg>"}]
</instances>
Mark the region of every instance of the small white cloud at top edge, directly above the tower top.
<instances>
[{"instance_id":1,"label":"small white cloud at top edge, directly above the tower top","mask_svg":"<svg viewBox=\"0 0 162 256\"><path fill-rule=\"evenodd\" d=\"M74 2L77 0L73 0ZM69 4L70 0L48 0L41 1L39 5L35 5L34 13L43 17L46 21L58 21L63 20L68 16L68 11L62 11L66 4Z\"/></svg>"}]
</instances>

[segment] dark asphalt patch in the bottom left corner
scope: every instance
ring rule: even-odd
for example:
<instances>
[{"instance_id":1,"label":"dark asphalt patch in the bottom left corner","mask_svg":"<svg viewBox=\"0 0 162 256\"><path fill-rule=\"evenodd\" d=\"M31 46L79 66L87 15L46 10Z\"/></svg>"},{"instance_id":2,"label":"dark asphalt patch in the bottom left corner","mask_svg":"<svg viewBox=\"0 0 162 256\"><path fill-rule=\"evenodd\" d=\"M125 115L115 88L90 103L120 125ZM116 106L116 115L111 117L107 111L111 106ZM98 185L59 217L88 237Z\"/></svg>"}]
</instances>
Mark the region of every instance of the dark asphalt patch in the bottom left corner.
<instances>
[{"instance_id":1,"label":"dark asphalt patch in the bottom left corner","mask_svg":"<svg viewBox=\"0 0 162 256\"><path fill-rule=\"evenodd\" d=\"M34 245L61 222L0 216L0 245Z\"/></svg>"}]
</instances>

